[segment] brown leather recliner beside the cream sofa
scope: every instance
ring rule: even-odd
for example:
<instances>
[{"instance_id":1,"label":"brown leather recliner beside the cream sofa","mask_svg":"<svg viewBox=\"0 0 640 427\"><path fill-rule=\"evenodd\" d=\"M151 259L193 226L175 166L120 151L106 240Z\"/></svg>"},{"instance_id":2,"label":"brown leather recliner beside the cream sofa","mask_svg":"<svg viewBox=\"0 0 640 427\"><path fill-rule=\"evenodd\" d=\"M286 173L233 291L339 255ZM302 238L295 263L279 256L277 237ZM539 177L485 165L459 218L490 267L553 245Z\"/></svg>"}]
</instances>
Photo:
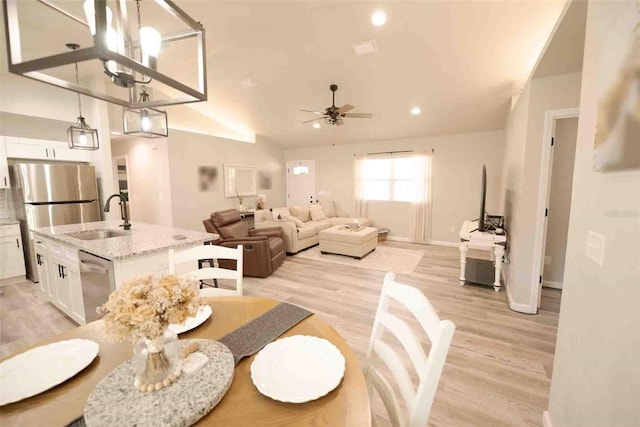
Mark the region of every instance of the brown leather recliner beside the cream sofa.
<instances>
[{"instance_id":1,"label":"brown leather recliner beside the cream sofa","mask_svg":"<svg viewBox=\"0 0 640 427\"><path fill-rule=\"evenodd\" d=\"M220 238L215 245L236 248L243 245L244 275L267 277L273 273L286 258L282 229L280 227L249 230L247 223L240 218L235 209L214 212L211 218L202 221L209 233L216 233ZM234 260L218 260L221 268L235 269Z\"/></svg>"}]
</instances>

